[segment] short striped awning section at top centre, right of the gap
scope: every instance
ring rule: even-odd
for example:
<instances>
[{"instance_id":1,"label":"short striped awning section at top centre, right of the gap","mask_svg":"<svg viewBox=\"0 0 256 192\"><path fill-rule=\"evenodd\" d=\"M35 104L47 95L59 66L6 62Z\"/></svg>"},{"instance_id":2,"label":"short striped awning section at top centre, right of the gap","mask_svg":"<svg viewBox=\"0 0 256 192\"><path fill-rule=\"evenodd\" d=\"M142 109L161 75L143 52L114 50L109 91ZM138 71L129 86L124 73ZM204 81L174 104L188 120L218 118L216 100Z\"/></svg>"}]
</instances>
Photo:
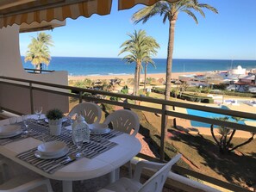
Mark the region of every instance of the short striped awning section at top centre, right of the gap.
<instances>
[{"instance_id":1,"label":"short striped awning section at top centre, right of the gap","mask_svg":"<svg viewBox=\"0 0 256 192\"><path fill-rule=\"evenodd\" d=\"M147 6L151 6L154 3L159 2L160 0L119 0L118 9L130 9L134 7L136 4L145 4ZM167 0L170 3L178 2L179 0Z\"/></svg>"}]
</instances>

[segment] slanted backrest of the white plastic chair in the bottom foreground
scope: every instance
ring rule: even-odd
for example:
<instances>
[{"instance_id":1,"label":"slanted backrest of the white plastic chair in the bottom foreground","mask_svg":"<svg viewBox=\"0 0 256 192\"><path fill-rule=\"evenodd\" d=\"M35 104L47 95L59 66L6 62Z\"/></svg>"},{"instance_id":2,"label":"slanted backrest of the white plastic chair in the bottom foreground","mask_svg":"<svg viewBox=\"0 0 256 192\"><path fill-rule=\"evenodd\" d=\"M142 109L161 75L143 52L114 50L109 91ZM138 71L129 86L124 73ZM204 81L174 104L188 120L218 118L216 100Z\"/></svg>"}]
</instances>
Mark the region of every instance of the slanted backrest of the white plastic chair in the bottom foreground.
<instances>
[{"instance_id":1,"label":"slanted backrest of the white plastic chair in the bottom foreground","mask_svg":"<svg viewBox=\"0 0 256 192\"><path fill-rule=\"evenodd\" d=\"M153 177L150 177L147 182L143 184L139 192L161 192L172 165L175 164L180 157L181 154L178 154L167 164L163 165L163 167L157 171Z\"/></svg>"}]
</instances>

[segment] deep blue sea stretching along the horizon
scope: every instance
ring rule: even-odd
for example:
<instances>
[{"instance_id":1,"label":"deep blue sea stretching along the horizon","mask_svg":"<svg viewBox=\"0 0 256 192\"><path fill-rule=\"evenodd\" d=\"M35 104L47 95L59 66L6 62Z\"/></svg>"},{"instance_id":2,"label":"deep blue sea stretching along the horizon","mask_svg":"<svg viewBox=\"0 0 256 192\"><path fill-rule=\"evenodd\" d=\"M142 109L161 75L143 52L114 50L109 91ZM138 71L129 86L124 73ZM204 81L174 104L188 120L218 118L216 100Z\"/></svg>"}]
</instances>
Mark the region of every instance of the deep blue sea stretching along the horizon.
<instances>
[{"instance_id":1,"label":"deep blue sea stretching along the horizon","mask_svg":"<svg viewBox=\"0 0 256 192\"><path fill-rule=\"evenodd\" d=\"M148 66L147 73L165 73L166 59L153 59L156 68ZM24 68L34 68L30 62L25 63ZM172 72L194 71L226 71L241 65L247 70L256 68L256 60L217 60L217 59L173 59ZM134 74L135 64L126 64L120 58L75 58L52 57L46 70L68 71L69 75L126 75ZM143 71L142 71L143 72Z\"/></svg>"}]
</instances>

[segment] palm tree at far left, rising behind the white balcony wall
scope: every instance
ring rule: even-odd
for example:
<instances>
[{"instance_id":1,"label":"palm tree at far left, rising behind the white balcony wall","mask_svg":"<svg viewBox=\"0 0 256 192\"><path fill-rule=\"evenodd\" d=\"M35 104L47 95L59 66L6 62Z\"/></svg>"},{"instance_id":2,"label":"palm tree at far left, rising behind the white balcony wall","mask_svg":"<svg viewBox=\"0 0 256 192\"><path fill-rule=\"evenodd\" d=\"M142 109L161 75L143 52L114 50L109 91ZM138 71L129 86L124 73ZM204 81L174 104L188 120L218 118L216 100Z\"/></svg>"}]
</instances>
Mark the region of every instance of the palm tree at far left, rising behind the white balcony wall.
<instances>
[{"instance_id":1,"label":"palm tree at far left, rising behind the white balcony wall","mask_svg":"<svg viewBox=\"0 0 256 192\"><path fill-rule=\"evenodd\" d=\"M38 34L37 38L32 38L28 45L25 62L31 61L38 70L42 69L42 64L49 65L51 56L49 46L53 46L52 36L46 33Z\"/></svg>"}]
</instances>

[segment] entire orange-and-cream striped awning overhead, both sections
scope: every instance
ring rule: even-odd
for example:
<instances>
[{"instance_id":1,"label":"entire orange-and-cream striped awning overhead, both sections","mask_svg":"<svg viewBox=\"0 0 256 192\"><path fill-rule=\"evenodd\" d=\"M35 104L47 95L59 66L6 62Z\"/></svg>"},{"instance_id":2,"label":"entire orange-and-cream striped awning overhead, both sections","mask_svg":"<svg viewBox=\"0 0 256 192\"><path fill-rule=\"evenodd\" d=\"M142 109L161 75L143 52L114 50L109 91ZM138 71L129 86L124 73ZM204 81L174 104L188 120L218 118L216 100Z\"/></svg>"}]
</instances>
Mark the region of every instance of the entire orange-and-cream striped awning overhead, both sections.
<instances>
[{"instance_id":1,"label":"entire orange-and-cream striped awning overhead, both sections","mask_svg":"<svg viewBox=\"0 0 256 192\"><path fill-rule=\"evenodd\" d=\"M177 2L178 0L168 0ZM118 9L129 9L138 3L153 5L159 0L119 0ZM22 23L64 21L92 14L108 15L112 0L1 0L0 28Z\"/></svg>"}]
</instances>

